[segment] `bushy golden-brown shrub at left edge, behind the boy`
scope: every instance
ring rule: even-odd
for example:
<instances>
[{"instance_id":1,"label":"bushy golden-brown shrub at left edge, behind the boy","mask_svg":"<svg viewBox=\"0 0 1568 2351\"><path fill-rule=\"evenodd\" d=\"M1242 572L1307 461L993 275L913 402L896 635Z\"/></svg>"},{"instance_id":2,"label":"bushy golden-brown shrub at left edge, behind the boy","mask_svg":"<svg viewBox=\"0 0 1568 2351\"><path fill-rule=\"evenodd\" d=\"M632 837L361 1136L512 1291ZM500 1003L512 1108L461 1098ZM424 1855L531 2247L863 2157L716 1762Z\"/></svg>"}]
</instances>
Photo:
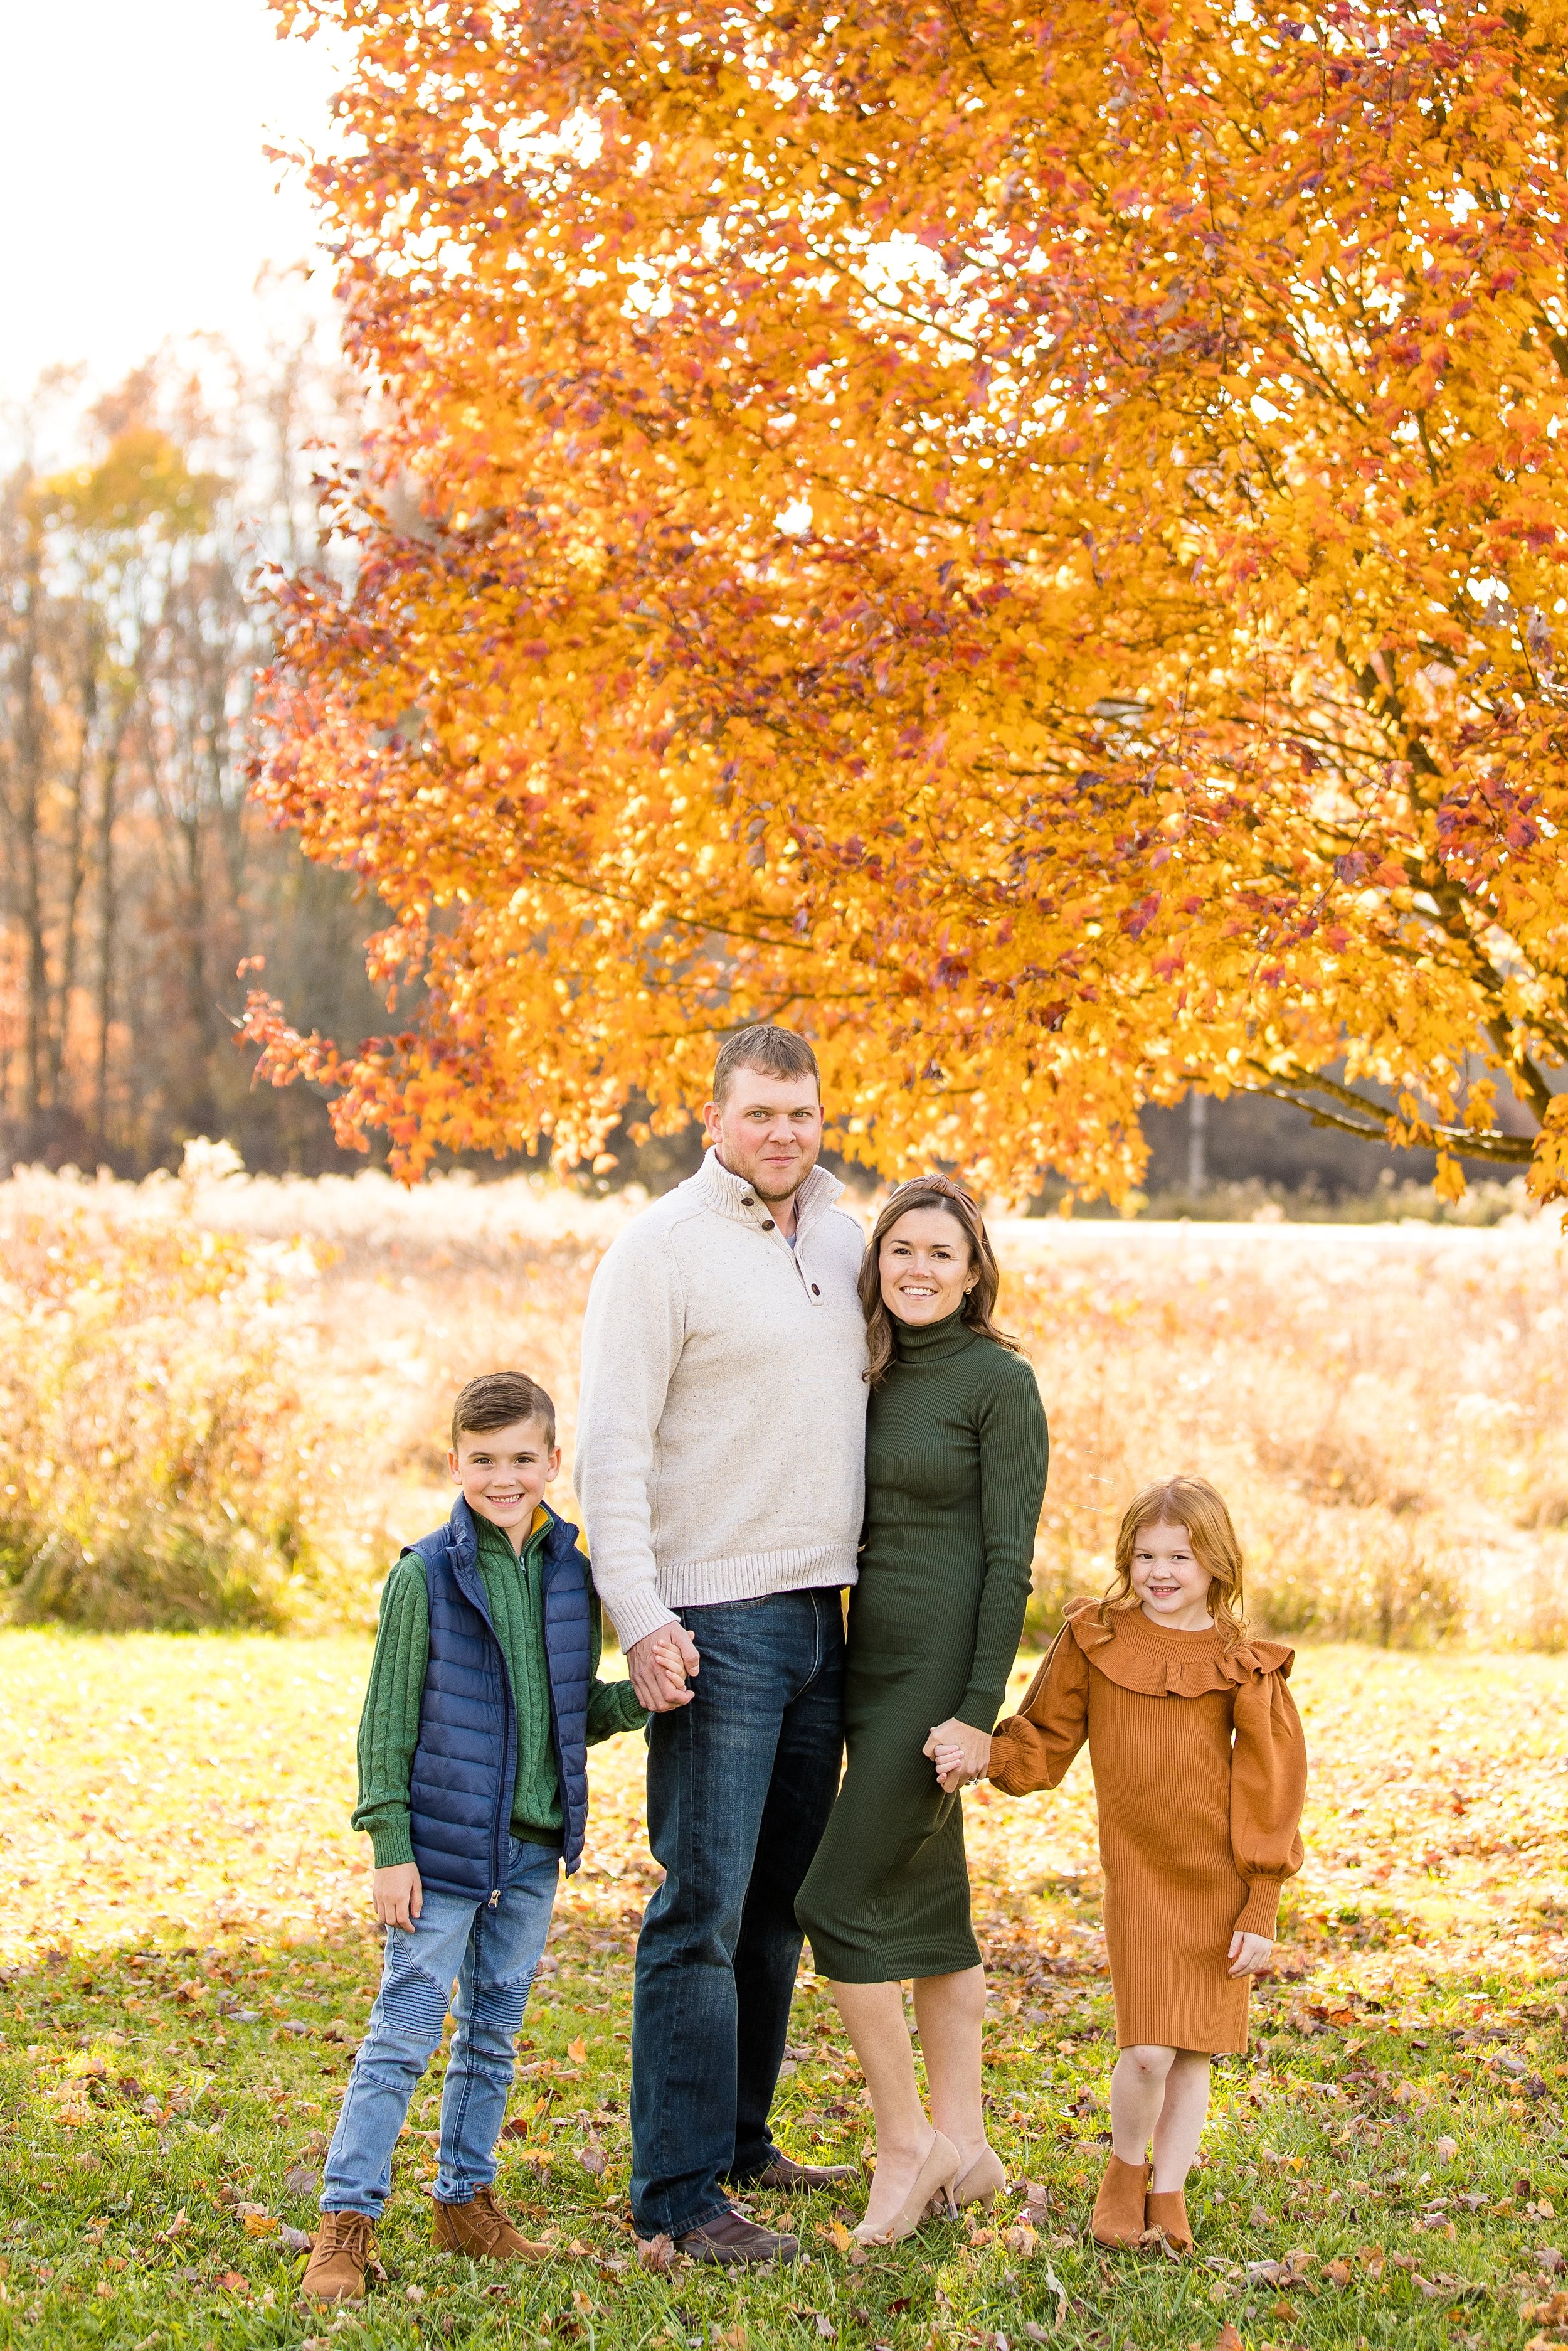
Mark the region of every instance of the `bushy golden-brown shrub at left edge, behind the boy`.
<instances>
[{"instance_id":1,"label":"bushy golden-brown shrub at left edge, behind the boy","mask_svg":"<svg viewBox=\"0 0 1568 2351\"><path fill-rule=\"evenodd\" d=\"M9 1194L9 1197L5 1197ZM0 1211L0 1582L12 1620L282 1625L310 1589L287 1253L188 1218Z\"/></svg>"}]
</instances>

